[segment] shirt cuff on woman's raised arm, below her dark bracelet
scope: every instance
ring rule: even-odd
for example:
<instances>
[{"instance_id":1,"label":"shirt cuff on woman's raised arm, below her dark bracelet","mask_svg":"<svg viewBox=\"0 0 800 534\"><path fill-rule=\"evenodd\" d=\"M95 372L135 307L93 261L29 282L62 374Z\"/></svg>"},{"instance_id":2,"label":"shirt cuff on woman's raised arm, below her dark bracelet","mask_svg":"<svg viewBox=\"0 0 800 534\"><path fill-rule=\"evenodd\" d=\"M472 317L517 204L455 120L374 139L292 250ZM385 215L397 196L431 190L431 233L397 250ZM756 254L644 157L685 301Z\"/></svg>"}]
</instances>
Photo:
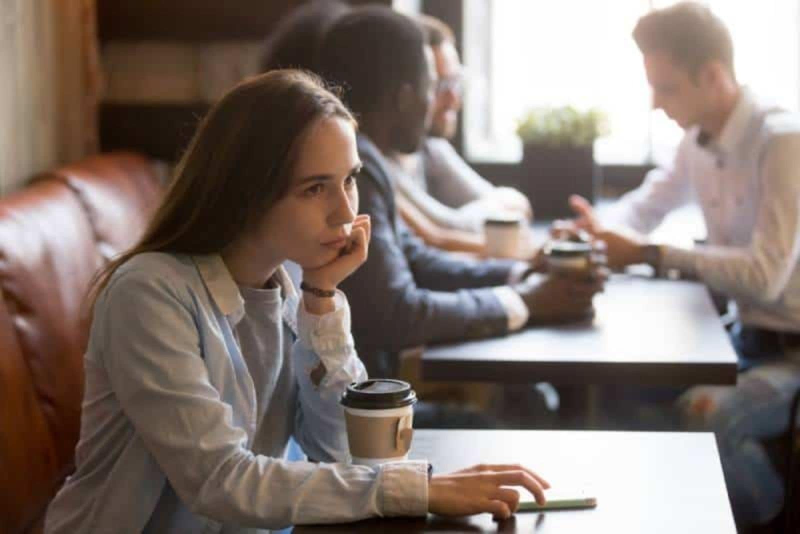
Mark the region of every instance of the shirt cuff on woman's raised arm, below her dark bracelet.
<instances>
[{"instance_id":1,"label":"shirt cuff on woman's raised arm, below her dark bracelet","mask_svg":"<svg viewBox=\"0 0 800 534\"><path fill-rule=\"evenodd\" d=\"M302 301L298 306L300 342L306 349L314 351L323 364L326 364L326 357L346 354L354 345L350 334L350 305L345 294L338 289L334 305L334 311L322 315L309 313Z\"/></svg>"}]
</instances>

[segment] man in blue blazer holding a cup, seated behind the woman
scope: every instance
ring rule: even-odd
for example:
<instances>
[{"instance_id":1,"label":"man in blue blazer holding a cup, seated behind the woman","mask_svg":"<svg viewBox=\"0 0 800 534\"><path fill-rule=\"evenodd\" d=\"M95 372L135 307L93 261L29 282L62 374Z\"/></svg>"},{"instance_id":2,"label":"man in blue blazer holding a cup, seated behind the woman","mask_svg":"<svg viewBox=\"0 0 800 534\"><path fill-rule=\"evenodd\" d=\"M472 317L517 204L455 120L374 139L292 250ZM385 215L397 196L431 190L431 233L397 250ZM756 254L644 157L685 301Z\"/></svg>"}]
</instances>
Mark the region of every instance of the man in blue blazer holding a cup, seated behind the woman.
<instances>
[{"instance_id":1,"label":"man in blue blazer holding a cup, seated behind the woman","mask_svg":"<svg viewBox=\"0 0 800 534\"><path fill-rule=\"evenodd\" d=\"M360 212L372 220L369 259L342 284L358 353L392 377L402 349L506 334L586 317L602 281L531 274L525 262L466 261L425 245L399 220L386 155L413 153L430 123L436 70L423 30L388 8L362 7L323 39L319 70L344 89L359 121Z\"/></svg>"}]
</instances>

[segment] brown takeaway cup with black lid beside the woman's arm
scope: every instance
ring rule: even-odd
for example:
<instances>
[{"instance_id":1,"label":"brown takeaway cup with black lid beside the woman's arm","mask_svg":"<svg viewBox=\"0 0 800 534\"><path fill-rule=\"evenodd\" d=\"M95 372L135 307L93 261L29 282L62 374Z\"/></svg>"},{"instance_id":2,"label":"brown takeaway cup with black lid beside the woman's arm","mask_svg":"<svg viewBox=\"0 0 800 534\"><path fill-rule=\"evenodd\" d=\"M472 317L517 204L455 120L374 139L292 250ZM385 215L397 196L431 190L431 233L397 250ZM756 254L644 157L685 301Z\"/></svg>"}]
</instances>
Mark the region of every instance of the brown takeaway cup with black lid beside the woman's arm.
<instances>
[{"instance_id":1,"label":"brown takeaway cup with black lid beside the woman's arm","mask_svg":"<svg viewBox=\"0 0 800 534\"><path fill-rule=\"evenodd\" d=\"M374 467L407 460L416 402L417 393L404 381L378 378L347 386L342 406L353 463Z\"/></svg>"}]
</instances>

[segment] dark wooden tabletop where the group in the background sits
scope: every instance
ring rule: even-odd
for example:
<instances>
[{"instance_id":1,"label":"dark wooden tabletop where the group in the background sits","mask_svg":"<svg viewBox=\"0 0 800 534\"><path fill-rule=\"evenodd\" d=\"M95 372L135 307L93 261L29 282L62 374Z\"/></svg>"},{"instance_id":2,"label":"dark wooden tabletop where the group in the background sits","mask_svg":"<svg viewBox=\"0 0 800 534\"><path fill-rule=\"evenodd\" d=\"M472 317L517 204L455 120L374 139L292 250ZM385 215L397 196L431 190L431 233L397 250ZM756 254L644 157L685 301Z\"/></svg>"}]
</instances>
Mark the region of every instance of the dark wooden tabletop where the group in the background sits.
<instances>
[{"instance_id":1,"label":"dark wooden tabletop where the group in the background sits","mask_svg":"<svg viewBox=\"0 0 800 534\"><path fill-rule=\"evenodd\" d=\"M435 381L574 385L735 384L736 353L706 288L614 275L593 321L426 348Z\"/></svg>"}]
</instances>

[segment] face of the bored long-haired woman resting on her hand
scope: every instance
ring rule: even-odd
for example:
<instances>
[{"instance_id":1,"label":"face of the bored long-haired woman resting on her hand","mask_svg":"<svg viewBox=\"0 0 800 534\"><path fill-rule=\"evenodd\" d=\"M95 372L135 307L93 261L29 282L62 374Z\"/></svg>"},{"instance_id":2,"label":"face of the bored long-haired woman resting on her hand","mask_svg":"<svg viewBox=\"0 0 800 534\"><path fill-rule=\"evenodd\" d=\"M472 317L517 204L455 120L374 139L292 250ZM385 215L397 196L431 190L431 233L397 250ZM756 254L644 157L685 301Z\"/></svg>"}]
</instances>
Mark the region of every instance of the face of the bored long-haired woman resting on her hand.
<instances>
[{"instance_id":1,"label":"face of the bored long-haired woman resting on her hand","mask_svg":"<svg viewBox=\"0 0 800 534\"><path fill-rule=\"evenodd\" d=\"M343 118L314 122L300 141L288 192L258 229L270 255L304 269L338 257L358 213L360 169L353 125Z\"/></svg>"}]
</instances>

